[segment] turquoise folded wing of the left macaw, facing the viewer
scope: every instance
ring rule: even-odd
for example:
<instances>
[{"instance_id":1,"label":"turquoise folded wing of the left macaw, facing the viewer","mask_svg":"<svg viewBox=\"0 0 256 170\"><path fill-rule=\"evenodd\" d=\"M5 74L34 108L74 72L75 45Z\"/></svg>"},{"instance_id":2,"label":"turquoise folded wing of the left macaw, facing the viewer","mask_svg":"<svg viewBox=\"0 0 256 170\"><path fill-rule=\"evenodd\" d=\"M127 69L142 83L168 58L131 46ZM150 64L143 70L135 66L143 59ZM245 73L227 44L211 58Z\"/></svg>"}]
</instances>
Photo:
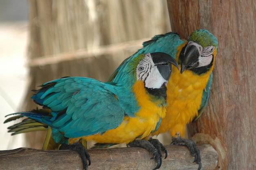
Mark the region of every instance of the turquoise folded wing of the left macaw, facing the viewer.
<instances>
[{"instance_id":1,"label":"turquoise folded wing of the left macaw, facing the viewer","mask_svg":"<svg viewBox=\"0 0 256 170\"><path fill-rule=\"evenodd\" d=\"M124 110L111 84L83 77L50 81L32 98L39 105L50 108L52 115L36 111L20 114L63 132L67 138L103 133L116 128L124 119Z\"/></svg>"}]
</instances>

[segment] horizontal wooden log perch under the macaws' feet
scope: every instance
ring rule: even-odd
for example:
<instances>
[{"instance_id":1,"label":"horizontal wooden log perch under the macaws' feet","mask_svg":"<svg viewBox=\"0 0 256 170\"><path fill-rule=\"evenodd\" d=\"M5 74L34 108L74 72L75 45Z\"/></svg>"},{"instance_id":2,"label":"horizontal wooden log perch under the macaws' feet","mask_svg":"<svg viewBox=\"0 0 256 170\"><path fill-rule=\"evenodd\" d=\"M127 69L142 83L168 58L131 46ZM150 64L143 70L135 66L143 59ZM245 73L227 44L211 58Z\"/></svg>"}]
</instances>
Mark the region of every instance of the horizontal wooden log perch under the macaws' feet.
<instances>
[{"instance_id":1,"label":"horizontal wooden log perch under the macaws' feet","mask_svg":"<svg viewBox=\"0 0 256 170\"><path fill-rule=\"evenodd\" d=\"M209 144L200 144L201 170L213 170L218 163L218 154ZM166 145L168 157L163 160L159 170L197 170L194 157L185 146ZM143 148L89 149L92 164L89 170L152 170L157 163L150 159L152 154ZM164 156L163 156L164 157ZM83 169L82 161L76 151L36 150L18 148L0 151L0 169Z\"/></svg>"}]
</instances>

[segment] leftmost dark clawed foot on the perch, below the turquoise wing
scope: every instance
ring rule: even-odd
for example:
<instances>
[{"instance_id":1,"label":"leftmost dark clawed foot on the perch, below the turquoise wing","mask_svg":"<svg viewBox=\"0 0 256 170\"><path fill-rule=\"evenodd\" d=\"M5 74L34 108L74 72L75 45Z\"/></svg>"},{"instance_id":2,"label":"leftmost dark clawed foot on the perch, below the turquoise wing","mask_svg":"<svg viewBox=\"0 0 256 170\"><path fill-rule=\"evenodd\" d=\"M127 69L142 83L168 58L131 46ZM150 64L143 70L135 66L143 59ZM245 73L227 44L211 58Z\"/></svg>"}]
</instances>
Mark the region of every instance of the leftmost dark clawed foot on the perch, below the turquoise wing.
<instances>
[{"instance_id":1,"label":"leftmost dark clawed foot on the perch, below the turquoise wing","mask_svg":"<svg viewBox=\"0 0 256 170\"><path fill-rule=\"evenodd\" d=\"M76 150L77 152L79 152L80 157L83 161L83 169L88 170L88 166L91 165L90 155L88 154L88 152L85 150L85 147L81 143L76 142L71 145L67 145L63 143L59 148L59 150ZM89 164L87 163L87 160L89 161Z\"/></svg>"}]
</instances>

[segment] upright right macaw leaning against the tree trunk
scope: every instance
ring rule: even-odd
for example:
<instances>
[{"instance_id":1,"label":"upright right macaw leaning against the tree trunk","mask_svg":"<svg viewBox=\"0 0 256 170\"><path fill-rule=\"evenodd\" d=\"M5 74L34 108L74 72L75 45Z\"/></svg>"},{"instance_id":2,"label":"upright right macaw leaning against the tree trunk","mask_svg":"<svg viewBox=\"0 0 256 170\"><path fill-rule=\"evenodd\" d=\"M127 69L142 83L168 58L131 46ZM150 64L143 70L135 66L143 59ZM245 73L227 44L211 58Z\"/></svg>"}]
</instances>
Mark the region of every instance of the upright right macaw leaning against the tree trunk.
<instances>
[{"instance_id":1,"label":"upright right macaw leaning against the tree trunk","mask_svg":"<svg viewBox=\"0 0 256 170\"><path fill-rule=\"evenodd\" d=\"M181 68L173 68L167 84L166 116L151 135L169 131L172 144L187 145L200 170L201 158L198 147L191 139L182 137L185 135L186 124L196 121L208 103L212 71L218 51L217 38L205 29L193 31L187 41L181 40L180 36L173 32L157 35L144 42L142 49L121 63L109 81L120 82L122 72L128 67L127 63L145 51L159 51L175 56Z\"/></svg>"}]
</instances>

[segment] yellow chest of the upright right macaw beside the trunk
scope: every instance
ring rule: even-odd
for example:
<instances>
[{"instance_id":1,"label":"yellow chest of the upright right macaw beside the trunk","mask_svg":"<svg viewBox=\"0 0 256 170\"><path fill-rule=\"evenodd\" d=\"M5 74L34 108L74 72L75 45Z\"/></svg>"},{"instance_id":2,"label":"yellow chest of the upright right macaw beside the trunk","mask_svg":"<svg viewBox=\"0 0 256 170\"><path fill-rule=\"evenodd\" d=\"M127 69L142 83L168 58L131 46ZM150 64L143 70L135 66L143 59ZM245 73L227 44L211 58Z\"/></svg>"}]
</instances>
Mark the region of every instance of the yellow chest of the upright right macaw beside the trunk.
<instances>
[{"instance_id":1,"label":"yellow chest of the upright right macaw beside the trunk","mask_svg":"<svg viewBox=\"0 0 256 170\"><path fill-rule=\"evenodd\" d=\"M170 130L171 136L184 136L186 124L198 115L203 90L210 73L199 76L190 70L185 70L181 74L177 68L174 68L167 84L166 116L153 134Z\"/></svg>"}]
</instances>

